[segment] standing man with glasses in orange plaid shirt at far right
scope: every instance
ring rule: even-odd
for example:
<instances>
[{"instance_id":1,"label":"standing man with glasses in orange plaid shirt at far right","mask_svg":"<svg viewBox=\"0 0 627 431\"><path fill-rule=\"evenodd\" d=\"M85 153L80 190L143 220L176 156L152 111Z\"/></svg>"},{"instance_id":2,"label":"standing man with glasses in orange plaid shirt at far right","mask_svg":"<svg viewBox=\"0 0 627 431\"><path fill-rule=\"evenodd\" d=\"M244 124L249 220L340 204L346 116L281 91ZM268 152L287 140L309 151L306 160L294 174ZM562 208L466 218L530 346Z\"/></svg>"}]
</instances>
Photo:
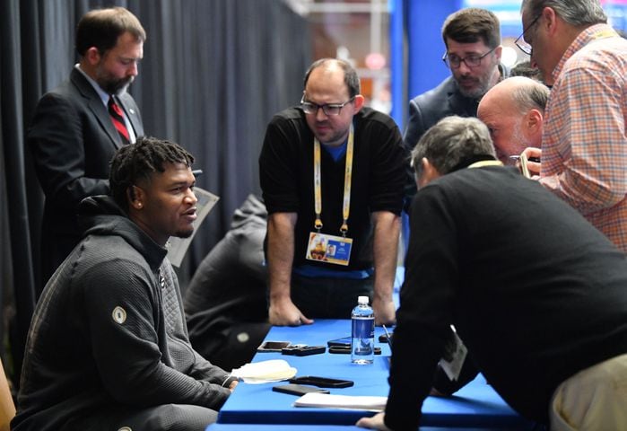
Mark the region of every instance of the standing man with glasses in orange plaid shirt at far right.
<instances>
[{"instance_id":1,"label":"standing man with glasses in orange plaid shirt at far right","mask_svg":"<svg viewBox=\"0 0 627 431\"><path fill-rule=\"evenodd\" d=\"M598 0L525 0L518 47L554 85L540 183L627 252L627 40Z\"/></svg>"}]
</instances>

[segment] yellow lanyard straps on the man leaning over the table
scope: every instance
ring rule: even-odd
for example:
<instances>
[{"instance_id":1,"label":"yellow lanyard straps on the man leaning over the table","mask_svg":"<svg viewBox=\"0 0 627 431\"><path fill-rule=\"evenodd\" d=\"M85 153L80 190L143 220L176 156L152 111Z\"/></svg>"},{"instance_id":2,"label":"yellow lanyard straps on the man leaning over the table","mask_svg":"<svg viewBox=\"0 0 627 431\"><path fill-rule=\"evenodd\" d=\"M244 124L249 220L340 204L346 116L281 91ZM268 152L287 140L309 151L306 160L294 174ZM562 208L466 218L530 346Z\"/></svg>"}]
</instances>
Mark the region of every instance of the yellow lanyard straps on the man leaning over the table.
<instances>
[{"instance_id":1,"label":"yellow lanyard straps on the man leaning over the table","mask_svg":"<svg viewBox=\"0 0 627 431\"><path fill-rule=\"evenodd\" d=\"M348 216L351 211L351 179L353 178L353 124L351 124L351 130L348 133L348 145L346 145L346 166L344 168L344 204L342 207L342 216L344 222L340 227L342 236L346 236L348 232ZM320 173L320 141L317 137L314 137L314 201L316 211L316 222L314 227L318 232L322 229L322 220L320 215L322 214L322 188L320 186L322 182L322 175Z\"/></svg>"}]
</instances>

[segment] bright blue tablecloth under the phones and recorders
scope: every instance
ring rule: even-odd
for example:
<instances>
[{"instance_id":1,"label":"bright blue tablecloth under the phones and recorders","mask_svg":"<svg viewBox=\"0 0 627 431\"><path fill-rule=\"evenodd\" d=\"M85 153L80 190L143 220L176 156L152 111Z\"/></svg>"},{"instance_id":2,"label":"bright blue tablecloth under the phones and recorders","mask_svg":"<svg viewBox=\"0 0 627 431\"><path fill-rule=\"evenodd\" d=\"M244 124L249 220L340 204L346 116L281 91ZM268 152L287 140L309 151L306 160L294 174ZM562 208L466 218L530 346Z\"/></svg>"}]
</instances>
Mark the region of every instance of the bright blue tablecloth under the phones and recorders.
<instances>
[{"instance_id":1,"label":"bright blue tablecloth under the phones and recorders","mask_svg":"<svg viewBox=\"0 0 627 431\"><path fill-rule=\"evenodd\" d=\"M376 329L376 337L382 333ZM349 336L350 320L317 320L313 325L273 327L266 340L291 341L293 344L327 345L327 340ZM315 356L284 356L279 353L257 353L254 362L285 359L298 369L297 375L318 375L352 380L353 387L330 389L333 394L388 396L390 350L386 343L377 342L382 354L372 365L353 365L349 355L328 352ZM347 409L296 408L298 397L272 391L282 383L239 383L237 389L220 411L221 424L325 424L353 425L358 418L372 412ZM501 400L501 397L478 376L474 382L449 398L429 397L422 406L424 427L488 427L532 429L533 424L521 418ZM251 429L251 428L248 428ZM305 428L303 428L305 429ZM345 429L345 428L344 428Z\"/></svg>"}]
</instances>

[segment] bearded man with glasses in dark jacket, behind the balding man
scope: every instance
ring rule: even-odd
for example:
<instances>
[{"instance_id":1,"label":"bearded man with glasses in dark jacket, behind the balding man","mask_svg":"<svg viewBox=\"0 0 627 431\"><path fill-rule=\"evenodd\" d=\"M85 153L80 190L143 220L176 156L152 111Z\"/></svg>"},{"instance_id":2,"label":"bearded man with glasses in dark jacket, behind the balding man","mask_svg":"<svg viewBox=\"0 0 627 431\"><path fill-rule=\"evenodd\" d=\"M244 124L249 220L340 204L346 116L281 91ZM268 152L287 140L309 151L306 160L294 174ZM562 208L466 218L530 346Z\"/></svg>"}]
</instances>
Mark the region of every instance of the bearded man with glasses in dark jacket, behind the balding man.
<instances>
[{"instance_id":1,"label":"bearded man with glasses in dark jacket, behind the balding man","mask_svg":"<svg viewBox=\"0 0 627 431\"><path fill-rule=\"evenodd\" d=\"M451 76L409 102L404 141L413 149L422 134L444 117L476 117L483 94L504 77L501 26L494 13L466 8L448 15L442 26L447 51L442 60Z\"/></svg>"}]
</instances>

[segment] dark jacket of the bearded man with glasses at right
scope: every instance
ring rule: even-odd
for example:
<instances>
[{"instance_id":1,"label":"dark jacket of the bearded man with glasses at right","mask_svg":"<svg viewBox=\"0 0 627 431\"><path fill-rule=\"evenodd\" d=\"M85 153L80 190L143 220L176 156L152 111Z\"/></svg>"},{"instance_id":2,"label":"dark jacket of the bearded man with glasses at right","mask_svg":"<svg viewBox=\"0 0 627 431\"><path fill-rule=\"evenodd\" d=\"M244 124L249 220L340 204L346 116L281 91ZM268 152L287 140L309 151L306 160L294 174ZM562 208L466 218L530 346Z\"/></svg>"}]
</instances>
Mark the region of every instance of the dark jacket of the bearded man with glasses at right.
<instances>
[{"instance_id":1,"label":"dark jacket of the bearded man with glasses at right","mask_svg":"<svg viewBox=\"0 0 627 431\"><path fill-rule=\"evenodd\" d=\"M453 76L409 102L409 119L403 141L411 151L427 129L445 117L476 117L478 101L459 92Z\"/></svg>"}]
</instances>

